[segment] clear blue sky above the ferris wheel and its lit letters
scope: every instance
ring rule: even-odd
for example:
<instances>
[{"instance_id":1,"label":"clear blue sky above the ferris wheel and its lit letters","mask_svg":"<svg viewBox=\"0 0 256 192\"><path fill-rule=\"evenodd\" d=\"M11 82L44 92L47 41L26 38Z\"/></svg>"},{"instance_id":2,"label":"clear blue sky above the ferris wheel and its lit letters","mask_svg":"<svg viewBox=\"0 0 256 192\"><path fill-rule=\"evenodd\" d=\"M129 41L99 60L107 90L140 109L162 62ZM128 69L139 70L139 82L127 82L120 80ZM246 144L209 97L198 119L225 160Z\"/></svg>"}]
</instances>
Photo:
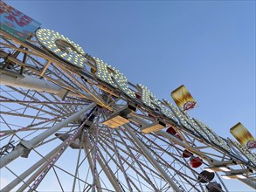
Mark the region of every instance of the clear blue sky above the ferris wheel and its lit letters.
<instances>
[{"instance_id":1,"label":"clear blue sky above the ferris wheel and its lit letters","mask_svg":"<svg viewBox=\"0 0 256 192\"><path fill-rule=\"evenodd\" d=\"M159 99L186 86L217 134L255 137L255 1L5 1ZM231 191L252 191L242 182Z\"/></svg>"}]
</instances>

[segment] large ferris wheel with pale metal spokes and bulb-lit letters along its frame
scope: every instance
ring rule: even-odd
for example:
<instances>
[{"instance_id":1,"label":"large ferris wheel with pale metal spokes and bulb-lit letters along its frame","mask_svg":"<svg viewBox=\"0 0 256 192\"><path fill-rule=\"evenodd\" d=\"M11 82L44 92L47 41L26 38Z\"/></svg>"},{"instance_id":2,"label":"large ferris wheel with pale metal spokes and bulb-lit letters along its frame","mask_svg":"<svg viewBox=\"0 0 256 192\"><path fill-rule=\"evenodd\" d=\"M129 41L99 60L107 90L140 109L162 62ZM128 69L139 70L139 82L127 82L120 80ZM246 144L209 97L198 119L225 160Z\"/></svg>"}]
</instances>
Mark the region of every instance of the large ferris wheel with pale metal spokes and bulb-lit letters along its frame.
<instances>
[{"instance_id":1,"label":"large ferris wheel with pale metal spokes and bulb-lit letters along its frame","mask_svg":"<svg viewBox=\"0 0 256 192\"><path fill-rule=\"evenodd\" d=\"M229 191L221 175L256 189L248 148L68 38L0 38L2 191Z\"/></svg>"}]
</instances>

